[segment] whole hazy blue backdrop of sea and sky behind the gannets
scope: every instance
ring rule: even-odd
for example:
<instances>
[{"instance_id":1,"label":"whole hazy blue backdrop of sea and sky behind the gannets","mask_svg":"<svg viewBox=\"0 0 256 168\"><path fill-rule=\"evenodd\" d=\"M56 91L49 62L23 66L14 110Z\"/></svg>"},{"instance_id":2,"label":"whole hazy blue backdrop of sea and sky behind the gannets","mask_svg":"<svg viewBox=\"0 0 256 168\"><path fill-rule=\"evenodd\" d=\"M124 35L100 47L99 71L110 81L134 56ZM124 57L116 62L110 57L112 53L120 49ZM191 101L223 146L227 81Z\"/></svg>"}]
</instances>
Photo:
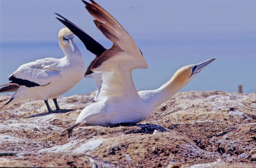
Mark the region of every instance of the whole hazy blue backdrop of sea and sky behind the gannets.
<instances>
[{"instance_id":1,"label":"whole hazy blue backdrop of sea and sky behind the gannets","mask_svg":"<svg viewBox=\"0 0 256 168\"><path fill-rule=\"evenodd\" d=\"M157 89L188 64L209 58L207 66L181 91L256 91L256 1L253 0L97 0L135 39L149 64L135 70L138 90ZM58 33L66 17L109 48L81 0L0 0L0 84L20 65L45 57L64 56ZM94 58L78 38L86 65ZM15 61L14 61L15 60ZM11 65L11 66L10 66ZM84 78L64 95L90 93Z\"/></svg>"}]
</instances>

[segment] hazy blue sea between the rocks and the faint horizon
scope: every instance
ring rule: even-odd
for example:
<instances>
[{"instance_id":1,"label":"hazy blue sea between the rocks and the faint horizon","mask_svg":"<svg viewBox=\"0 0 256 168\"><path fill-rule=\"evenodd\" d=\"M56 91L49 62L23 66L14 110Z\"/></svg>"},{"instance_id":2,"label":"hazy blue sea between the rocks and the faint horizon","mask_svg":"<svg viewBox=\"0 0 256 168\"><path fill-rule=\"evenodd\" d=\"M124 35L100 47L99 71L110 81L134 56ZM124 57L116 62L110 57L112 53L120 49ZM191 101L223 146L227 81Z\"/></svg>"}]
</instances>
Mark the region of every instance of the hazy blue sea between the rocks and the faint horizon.
<instances>
[{"instance_id":1,"label":"hazy blue sea between the rocks and the faint horizon","mask_svg":"<svg viewBox=\"0 0 256 168\"><path fill-rule=\"evenodd\" d=\"M176 70L188 64L216 60L204 68L181 91L238 91L256 92L256 33L215 33L149 36L135 39L149 68L133 71L137 90L153 90L166 83ZM86 65L94 58L78 38ZM106 48L112 43L100 41ZM8 83L20 65L46 57L61 58L64 53L56 42L2 42L0 43L0 84ZM89 78L64 94L91 93L96 87ZM2 95L3 93L1 93ZM6 93L4 93L6 94ZM9 93L11 94L11 93Z\"/></svg>"}]
</instances>

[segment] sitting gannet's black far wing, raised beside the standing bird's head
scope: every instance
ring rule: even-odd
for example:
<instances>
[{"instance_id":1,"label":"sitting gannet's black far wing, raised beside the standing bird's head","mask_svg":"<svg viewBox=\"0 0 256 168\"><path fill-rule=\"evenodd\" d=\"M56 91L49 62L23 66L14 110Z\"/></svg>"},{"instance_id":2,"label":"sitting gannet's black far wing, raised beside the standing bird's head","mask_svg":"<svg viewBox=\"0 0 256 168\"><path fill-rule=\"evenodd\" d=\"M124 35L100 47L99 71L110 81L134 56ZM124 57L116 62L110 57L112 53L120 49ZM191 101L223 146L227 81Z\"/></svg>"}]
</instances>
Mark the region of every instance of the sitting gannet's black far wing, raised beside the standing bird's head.
<instances>
[{"instance_id":1,"label":"sitting gannet's black far wing, raised beside the standing bird's head","mask_svg":"<svg viewBox=\"0 0 256 168\"><path fill-rule=\"evenodd\" d=\"M55 14L57 14L57 13L55 13ZM91 73L93 73L90 70L91 66L95 63L97 58L99 56L101 56L102 53L105 52L105 50L106 50L105 47L103 47L100 43L98 43L96 40L94 40L90 35L88 35L86 32L84 32L81 28L76 26L74 23L72 23L71 21L68 21L68 19L64 18L60 14L57 14L57 15L60 16L63 20L60 18L57 18L57 17L56 17L56 19L58 19L70 31L72 31L83 42L86 49L88 49L91 53L96 55L94 60L88 66L84 76L90 75Z\"/></svg>"}]
</instances>

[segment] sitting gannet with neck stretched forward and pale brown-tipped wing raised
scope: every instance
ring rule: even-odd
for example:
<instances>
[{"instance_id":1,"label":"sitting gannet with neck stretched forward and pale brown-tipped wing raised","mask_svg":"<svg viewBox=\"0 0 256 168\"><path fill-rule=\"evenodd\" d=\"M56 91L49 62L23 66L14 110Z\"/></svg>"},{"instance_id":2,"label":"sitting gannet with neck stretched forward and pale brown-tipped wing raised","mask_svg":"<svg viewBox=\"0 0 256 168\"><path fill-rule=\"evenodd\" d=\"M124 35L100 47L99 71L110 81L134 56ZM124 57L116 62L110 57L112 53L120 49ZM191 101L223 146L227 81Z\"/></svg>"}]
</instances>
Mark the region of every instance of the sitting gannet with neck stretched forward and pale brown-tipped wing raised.
<instances>
[{"instance_id":1,"label":"sitting gannet with neck stretched forward and pale brown-tipped wing raised","mask_svg":"<svg viewBox=\"0 0 256 168\"><path fill-rule=\"evenodd\" d=\"M181 90L188 82L215 58L202 63L187 65L177 70L173 77L156 90L136 91L132 70L146 69L146 63L136 42L122 26L96 2L85 3L86 9L95 18L98 29L113 42L113 46L99 56L86 77L100 77L100 86L95 99L79 114L75 125L115 125L118 123L137 123L143 121L153 110ZM81 39L81 38L80 38ZM95 75L97 74L97 75ZM100 75L98 75L100 74ZM98 78L96 77L96 80Z\"/></svg>"}]
</instances>

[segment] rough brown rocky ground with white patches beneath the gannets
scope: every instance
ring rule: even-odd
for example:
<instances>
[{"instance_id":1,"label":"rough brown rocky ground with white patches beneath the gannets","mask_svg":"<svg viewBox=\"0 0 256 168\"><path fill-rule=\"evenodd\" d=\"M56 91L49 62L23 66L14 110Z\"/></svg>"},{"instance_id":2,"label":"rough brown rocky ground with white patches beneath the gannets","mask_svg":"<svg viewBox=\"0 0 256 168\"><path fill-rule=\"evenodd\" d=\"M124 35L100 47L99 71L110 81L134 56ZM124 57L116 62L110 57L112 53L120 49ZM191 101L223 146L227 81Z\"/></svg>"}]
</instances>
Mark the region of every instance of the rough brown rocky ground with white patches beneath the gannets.
<instances>
[{"instance_id":1,"label":"rough brown rocky ground with white patches beneath the gannets","mask_svg":"<svg viewBox=\"0 0 256 168\"><path fill-rule=\"evenodd\" d=\"M0 105L10 98L0 96ZM0 167L253 168L256 93L177 93L137 125L65 131L93 95L60 97L66 113L42 100L0 112ZM50 103L51 106L53 102Z\"/></svg>"}]
</instances>

